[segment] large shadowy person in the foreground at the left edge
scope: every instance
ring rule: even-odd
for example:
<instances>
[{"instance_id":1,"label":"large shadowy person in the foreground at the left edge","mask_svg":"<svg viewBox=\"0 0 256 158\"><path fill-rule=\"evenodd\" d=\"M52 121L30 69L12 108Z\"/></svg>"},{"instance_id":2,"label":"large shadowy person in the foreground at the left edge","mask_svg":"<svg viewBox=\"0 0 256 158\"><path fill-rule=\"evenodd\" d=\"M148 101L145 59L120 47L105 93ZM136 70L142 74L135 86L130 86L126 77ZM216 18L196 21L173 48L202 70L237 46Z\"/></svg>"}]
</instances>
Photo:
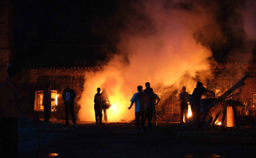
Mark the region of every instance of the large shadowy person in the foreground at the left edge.
<instances>
[{"instance_id":1,"label":"large shadowy person in the foreground at the left edge","mask_svg":"<svg viewBox=\"0 0 256 158\"><path fill-rule=\"evenodd\" d=\"M34 117L36 123L39 117L33 108L21 107L21 101L29 97L29 93L19 93L16 83L21 80L22 68L18 63L7 67L8 78L0 85L0 157L18 158L18 119L21 113ZM26 110L24 110L26 109Z\"/></svg>"}]
</instances>

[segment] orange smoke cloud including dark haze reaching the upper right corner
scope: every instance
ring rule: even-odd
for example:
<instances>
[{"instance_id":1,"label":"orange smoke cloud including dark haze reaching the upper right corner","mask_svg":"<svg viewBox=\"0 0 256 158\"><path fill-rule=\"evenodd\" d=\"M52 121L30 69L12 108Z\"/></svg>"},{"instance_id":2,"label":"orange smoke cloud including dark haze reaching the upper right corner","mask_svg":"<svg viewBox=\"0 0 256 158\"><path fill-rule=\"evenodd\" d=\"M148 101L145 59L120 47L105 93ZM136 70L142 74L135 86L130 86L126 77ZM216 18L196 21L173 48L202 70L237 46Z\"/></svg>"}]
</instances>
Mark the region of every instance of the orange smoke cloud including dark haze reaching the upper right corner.
<instances>
[{"instance_id":1,"label":"orange smoke cloud including dark haze reaching the upper right corner","mask_svg":"<svg viewBox=\"0 0 256 158\"><path fill-rule=\"evenodd\" d=\"M138 85L145 89L150 82L163 103L183 85L192 93L196 75L206 83L209 57L250 61L255 50L253 6L251 0L121 1L117 13L94 29L111 38L107 43L117 43L117 53L110 53L102 71L86 72L79 119L94 120L98 87L109 94L109 121L132 120L134 107L127 107Z\"/></svg>"}]
</instances>

